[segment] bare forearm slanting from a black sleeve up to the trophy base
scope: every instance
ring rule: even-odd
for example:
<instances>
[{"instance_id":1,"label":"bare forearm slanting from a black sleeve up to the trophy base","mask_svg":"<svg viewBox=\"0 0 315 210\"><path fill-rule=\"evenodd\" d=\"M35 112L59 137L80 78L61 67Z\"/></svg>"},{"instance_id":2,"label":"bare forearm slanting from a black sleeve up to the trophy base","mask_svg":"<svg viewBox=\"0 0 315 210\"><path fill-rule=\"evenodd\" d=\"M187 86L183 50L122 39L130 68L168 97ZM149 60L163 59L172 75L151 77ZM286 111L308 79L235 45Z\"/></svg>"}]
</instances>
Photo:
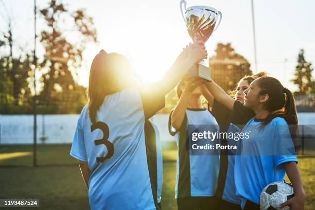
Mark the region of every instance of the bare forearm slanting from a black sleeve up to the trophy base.
<instances>
[{"instance_id":1,"label":"bare forearm slanting from a black sleeve up to the trophy base","mask_svg":"<svg viewBox=\"0 0 315 210\"><path fill-rule=\"evenodd\" d=\"M214 81L207 82L205 84L206 89L213 95L213 97L219 101L226 108L233 110L234 99L231 98L225 91L217 85Z\"/></svg>"}]
</instances>

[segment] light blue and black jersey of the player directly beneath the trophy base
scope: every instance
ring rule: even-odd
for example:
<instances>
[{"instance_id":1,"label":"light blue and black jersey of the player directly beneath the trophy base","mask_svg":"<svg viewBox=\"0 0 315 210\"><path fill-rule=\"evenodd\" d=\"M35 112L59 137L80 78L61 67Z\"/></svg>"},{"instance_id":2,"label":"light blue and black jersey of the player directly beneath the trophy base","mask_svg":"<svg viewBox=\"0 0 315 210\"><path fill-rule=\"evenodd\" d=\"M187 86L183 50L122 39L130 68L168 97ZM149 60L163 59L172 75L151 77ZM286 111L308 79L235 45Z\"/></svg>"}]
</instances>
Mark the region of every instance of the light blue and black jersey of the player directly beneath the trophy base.
<instances>
[{"instance_id":1,"label":"light blue and black jersey of the player directly beneath the trophy base","mask_svg":"<svg viewBox=\"0 0 315 210\"><path fill-rule=\"evenodd\" d=\"M187 109L187 125L217 125L216 119L207 109ZM170 124L170 123L169 123ZM183 125L182 125L183 127ZM187 155L187 126L177 133L177 179L175 197L214 196L218 185L220 169L219 155ZM219 131L219 126L212 126L211 132ZM215 141L218 141L216 139Z\"/></svg>"}]
</instances>

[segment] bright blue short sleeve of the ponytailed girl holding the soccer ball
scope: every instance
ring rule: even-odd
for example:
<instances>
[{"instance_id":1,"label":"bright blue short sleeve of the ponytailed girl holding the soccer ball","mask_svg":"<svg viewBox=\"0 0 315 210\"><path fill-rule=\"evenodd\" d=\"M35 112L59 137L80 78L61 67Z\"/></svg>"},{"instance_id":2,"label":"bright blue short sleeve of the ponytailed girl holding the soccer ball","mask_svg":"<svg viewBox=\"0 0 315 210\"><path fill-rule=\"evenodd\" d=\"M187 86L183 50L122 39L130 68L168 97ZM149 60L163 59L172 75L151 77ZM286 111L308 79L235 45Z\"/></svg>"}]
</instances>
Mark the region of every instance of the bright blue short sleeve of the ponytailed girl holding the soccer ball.
<instances>
[{"instance_id":1,"label":"bright blue short sleeve of the ponytailed girl holding the soccer ball","mask_svg":"<svg viewBox=\"0 0 315 210\"><path fill-rule=\"evenodd\" d=\"M274 126L274 165L279 167L281 164L286 162L296 162L296 164L298 164L298 159L296 159L295 148L287 123L284 119L281 119L278 124Z\"/></svg>"}]
</instances>

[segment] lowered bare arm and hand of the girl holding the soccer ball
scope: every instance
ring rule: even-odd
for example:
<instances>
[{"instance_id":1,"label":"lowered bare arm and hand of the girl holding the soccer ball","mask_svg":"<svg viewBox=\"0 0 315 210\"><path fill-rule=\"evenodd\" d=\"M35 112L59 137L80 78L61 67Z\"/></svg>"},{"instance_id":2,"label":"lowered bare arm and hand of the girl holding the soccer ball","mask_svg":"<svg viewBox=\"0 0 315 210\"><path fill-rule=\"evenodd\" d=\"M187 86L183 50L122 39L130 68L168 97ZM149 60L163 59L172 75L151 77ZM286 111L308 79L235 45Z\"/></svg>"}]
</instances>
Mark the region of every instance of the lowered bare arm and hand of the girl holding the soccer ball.
<instances>
[{"instance_id":1,"label":"lowered bare arm and hand of the girl holding the soccer ball","mask_svg":"<svg viewBox=\"0 0 315 210\"><path fill-rule=\"evenodd\" d=\"M296 167L295 162L286 162L283 164L286 173L288 175L288 178L290 179L293 188L295 196L283 204L280 205L280 208L283 208L285 206L291 206L292 210L303 210L304 209L304 199L305 199L305 192L303 189L302 180L299 174L298 167Z\"/></svg>"}]
</instances>

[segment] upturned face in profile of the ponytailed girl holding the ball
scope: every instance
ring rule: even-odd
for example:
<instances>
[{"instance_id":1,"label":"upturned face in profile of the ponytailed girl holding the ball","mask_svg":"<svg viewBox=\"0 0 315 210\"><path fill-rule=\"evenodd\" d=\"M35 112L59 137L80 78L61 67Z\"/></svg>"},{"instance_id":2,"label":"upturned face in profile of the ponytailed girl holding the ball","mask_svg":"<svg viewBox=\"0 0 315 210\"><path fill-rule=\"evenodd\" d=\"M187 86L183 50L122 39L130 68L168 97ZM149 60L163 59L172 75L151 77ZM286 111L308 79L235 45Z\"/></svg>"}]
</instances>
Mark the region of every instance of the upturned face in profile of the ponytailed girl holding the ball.
<instances>
[{"instance_id":1,"label":"upturned face in profile of the ponytailed girl holding the ball","mask_svg":"<svg viewBox=\"0 0 315 210\"><path fill-rule=\"evenodd\" d=\"M268 99L268 95L259 95L260 88L257 85L257 79L254 80L249 88L244 91L244 107L257 109L263 106L263 103Z\"/></svg>"}]
</instances>

